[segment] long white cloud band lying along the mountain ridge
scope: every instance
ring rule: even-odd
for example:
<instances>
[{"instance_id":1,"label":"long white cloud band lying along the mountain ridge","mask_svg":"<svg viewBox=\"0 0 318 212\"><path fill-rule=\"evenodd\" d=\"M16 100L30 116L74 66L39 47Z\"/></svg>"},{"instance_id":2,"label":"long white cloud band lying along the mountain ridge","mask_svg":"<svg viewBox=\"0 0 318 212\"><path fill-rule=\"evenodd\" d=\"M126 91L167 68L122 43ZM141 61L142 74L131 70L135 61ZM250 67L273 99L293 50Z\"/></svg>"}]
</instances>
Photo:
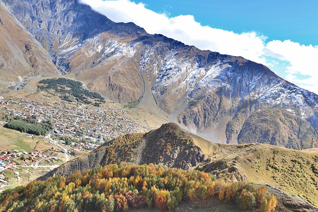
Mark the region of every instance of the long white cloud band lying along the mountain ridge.
<instances>
[{"instance_id":1,"label":"long white cloud band lying along the mountain ridge","mask_svg":"<svg viewBox=\"0 0 318 212\"><path fill-rule=\"evenodd\" d=\"M115 22L134 22L148 33L163 34L167 37L194 45L202 50L211 50L248 60L275 66L266 57L286 61L285 73L279 75L287 80L318 93L317 46L305 46L290 40L266 42L266 37L255 32L237 34L231 31L202 26L192 15L168 17L146 8L144 3L130 0L80 0L89 4L97 12ZM308 75L301 80L299 75Z\"/></svg>"}]
</instances>

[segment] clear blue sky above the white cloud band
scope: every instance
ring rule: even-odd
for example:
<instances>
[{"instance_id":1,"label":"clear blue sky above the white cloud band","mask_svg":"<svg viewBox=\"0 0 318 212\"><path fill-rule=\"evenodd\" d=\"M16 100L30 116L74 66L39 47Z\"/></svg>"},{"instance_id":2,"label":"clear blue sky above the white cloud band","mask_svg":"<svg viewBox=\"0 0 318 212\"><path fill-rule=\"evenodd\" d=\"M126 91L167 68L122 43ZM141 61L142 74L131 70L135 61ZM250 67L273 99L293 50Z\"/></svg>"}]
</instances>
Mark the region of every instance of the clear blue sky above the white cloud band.
<instances>
[{"instance_id":1,"label":"clear blue sky above the white cloud band","mask_svg":"<svg viewBox=\"0 0 318 212\"><path fill-rule=\"evenodd\" d=\"M193 15L202 25L256 31L271 40L318 45L318 0L136 0L168 16Z\"/></svg>"}]
</instances>

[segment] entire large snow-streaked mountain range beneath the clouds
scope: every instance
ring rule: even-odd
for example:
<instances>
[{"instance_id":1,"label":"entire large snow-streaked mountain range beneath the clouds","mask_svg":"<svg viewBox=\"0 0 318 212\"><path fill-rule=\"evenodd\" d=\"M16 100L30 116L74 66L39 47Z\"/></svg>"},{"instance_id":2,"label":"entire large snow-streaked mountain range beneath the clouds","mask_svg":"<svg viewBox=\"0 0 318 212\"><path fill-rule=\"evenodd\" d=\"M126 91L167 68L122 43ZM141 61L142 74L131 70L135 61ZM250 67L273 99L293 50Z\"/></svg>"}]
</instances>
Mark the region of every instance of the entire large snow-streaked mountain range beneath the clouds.
<instances>
[{"instance_id":1,"label":"entire large snow-streaked mountain range beneath the clouds","mask_svg":"<svg viewBox=\"0 0 318 212\"><path fill-rule=\"evenodd\" d=\"M106 98L212 141L318 146L318 96L261 64L114 23L78 0L2 1L61 73Z\"/></svg>"}]
</instances>

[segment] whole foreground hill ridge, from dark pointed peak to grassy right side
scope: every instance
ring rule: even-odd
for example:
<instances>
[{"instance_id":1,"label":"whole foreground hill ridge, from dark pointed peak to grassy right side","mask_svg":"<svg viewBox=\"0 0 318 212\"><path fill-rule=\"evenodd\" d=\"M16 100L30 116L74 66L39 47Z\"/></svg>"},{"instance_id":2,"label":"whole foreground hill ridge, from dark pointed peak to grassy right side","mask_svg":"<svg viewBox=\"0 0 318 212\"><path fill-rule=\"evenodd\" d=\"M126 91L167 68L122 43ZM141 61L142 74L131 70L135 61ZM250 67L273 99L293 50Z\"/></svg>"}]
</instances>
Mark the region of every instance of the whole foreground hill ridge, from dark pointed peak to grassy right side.
<instances>
[{"instance_id":1,"label":"whole foreground hill ridge, from dark pointed peak to grassy right side","mask_svg":"<svg viewBox=\"0 0 318 212\"><path fill-rule=\"evenodd\" d=\"M185 132L173 123L146 134L118 137L83 157L61 165L39 180L56 175L67 177L78 170L120 162L198 169L228 181L267 184L275 195L279 194L284 200L281 201L282 207L312 211L314 209L308 203L318 206L317 152L268 144L213 143Z\"/></svg>"}]
</instances>

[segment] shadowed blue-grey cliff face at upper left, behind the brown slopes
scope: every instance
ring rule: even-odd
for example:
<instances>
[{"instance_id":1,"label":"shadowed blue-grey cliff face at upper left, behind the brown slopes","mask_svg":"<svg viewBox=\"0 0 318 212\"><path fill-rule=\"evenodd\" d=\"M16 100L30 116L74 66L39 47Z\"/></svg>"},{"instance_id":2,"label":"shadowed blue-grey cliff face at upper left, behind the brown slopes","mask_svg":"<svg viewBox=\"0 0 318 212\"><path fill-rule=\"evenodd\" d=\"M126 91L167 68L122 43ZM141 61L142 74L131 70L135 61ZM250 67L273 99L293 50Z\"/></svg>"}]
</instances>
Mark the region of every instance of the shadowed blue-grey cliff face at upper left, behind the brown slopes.
<instances>
[{"instance_id":1,"label":"shadowed blue-grey cliff face at upper left, behind the brown slopes","mask_svg":"<svg viewBox=\"0 0 318 212\"><path fill-rule=\"evenodd\" d=\"M143 34L145 31L133 23L115 24L103 15L94 12L89 6L78 0L3 0L9 10L48 50L54 64L61 72L72 71L69 59L81 47L91 42L103 43L102 32L114 31L120 38L127 35ZM99 45L99 44L98 44ZM99 47L105 50L103 47ZM89 52L86 52L89 54ZM102 55L94 55L94 59L79 70L93 67ZM72 58L72 61L74 58Z\"/></svg>"}]
</instances>

